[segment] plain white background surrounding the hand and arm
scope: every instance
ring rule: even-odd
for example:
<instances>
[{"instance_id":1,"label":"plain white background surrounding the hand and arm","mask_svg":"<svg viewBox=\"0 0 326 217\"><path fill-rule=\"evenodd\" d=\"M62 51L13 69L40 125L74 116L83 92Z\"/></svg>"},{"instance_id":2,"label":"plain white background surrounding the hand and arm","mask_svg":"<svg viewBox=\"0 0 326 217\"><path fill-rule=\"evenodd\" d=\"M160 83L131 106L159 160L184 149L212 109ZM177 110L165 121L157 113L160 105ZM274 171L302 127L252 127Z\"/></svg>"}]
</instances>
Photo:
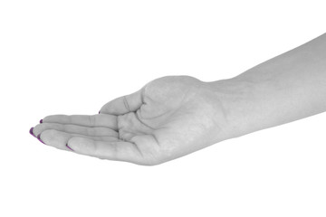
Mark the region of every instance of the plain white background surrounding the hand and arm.
<instances>
[{"instance_id":1,"label":"plain white background surrounding the hand and arm","mask_svg":"<svg viewBox=\"0 0 326 217\"><path fill-rule=\"evenodd\" d=\"M325 216L325 113L157 166L28 133L158 77L233 77L325 33L323 3L2 0L0 216Z\"/></svg>"}]
</instances>

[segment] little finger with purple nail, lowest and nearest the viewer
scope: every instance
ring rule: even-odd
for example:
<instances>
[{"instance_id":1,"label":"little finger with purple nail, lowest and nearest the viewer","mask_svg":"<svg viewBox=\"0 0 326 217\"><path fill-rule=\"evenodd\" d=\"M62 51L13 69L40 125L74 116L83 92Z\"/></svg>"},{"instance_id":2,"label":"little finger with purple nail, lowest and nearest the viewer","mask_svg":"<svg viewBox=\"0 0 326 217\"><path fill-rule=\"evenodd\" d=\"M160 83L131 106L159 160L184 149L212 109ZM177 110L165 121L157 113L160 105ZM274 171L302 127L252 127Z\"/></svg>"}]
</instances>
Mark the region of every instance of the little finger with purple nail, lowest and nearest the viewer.
<instances>
[{"instance_id":1,"label":"little finger with purple nail, lowest and nearest the viewer","mask_svg":"<svg viewBox=\"0 0 326 217\"><path fill-rule=\"evenodd\" d=\"M72 137L68 146L78 154L102 159L127 161L142 165L144 158L138 146L129 142L103 142L84 137Z\"/></svg>"}]
</instances>

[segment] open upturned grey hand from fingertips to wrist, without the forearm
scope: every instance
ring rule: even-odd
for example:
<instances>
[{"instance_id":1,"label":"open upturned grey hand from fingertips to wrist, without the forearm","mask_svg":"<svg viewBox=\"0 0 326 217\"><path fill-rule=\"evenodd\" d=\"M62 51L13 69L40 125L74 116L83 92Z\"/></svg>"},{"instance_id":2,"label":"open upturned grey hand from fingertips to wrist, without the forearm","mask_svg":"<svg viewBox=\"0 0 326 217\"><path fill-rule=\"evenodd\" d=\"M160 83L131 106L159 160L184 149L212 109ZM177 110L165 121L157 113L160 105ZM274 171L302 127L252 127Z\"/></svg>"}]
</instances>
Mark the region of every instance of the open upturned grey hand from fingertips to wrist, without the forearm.
<instances>
[{"instance_id":1,"label":"open upturned grey hand from fingertips to wrist, without the forearm","mask_svg":"<svg viewBox=\"0 0 326 217\"><path fill-rule=\"evenodd\" d=\"M158 165L225 137L225 113L208 83L164 77L114 99L99 115L53 115L31 129L44 144L102 159Z\"/></svg>"}]
</instances>

